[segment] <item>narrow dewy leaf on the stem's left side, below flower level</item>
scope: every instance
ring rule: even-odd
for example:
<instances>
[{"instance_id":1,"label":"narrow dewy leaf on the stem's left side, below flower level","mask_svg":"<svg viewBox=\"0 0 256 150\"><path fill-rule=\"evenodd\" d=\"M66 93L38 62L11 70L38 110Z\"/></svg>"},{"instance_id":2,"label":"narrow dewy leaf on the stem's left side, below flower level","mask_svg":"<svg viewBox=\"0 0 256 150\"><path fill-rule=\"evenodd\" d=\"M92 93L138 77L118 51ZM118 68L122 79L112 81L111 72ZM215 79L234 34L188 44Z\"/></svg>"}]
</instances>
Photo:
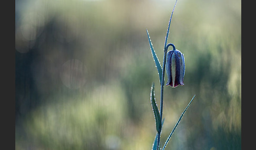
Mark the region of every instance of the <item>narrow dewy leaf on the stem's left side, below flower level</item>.
<instances>
[{"instance_id":1,"label":"narrow dewy leaf on the stem's left side, below flower level","mask_svg":"<svg viewBox=\"0 0 256 150\"><path fill-rule=\"evenodd\" d=\"M155 102L155 90L154 89L155 89L155 85L154 85L154 82L153 82L152 87L151 87L151 97L150 98L151 98L152 109L153 109L154 116L155 116L156 131L157 131L157 133L160 134L162 124L161 124L159 110L158 110L156 102Z\"/></svg>"}]
</instances>

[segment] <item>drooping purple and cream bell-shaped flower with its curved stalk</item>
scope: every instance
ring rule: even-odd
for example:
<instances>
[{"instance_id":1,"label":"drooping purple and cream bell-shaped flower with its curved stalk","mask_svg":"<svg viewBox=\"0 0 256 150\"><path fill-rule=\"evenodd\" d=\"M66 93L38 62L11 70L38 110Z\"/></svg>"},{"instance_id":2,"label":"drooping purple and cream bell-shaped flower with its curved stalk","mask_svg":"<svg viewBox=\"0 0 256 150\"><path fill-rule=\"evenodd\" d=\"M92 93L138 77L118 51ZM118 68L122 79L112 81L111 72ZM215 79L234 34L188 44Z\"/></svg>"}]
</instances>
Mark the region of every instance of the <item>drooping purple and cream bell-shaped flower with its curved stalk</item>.
<instances>
[{"instance_id":1,"label":"drooping purple and cream bell-shaped flower with its curved stalk","mask_svg":"<svg viewBox=\"0 0 256 150\"><path fill-rule=\"evenodd\" d=\"M173 50L170 50L166 56L166 73L168 76L166 86L170 85L172 88L175 88L179 84L184 85L185 59L183 53L175 49L173 44L168 44L166 49L170 45L173 47Z\"/></svg>"}]
</instances>

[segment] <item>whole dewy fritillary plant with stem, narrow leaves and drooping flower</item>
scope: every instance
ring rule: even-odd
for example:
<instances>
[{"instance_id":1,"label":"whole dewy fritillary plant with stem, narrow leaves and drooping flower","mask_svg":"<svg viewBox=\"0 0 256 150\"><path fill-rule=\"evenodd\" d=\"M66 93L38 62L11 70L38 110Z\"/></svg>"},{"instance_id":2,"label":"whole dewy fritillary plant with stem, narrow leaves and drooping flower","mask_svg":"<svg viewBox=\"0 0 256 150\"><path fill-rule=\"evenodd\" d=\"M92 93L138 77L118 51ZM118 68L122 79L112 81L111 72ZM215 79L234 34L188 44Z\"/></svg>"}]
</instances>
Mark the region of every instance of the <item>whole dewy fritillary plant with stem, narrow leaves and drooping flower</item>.
<instances>
[{"instance_id":1,"label":"whole dewy fritillary plant with stem, narrow leaves and drooping flower","mask_svg":"<svg viewBox=\"0 0 256 150\"><path fill-rule=\"evenodd\" d=\"M164 122L164 119L162 119L162 115L163 115L163 88L164 88L165 67L166 67L166 74L168 76L168 81L166 83L166 86L170 85L172 88L175 88L178 85L184 85L184 83L183 83L183 79L184 79L184 75L185 75L185 58L184 58L184 55L181 51L177 50L172 43L167 45L167 40L168 40L168 36L169 36L169 31L170 31L170 24L171 24L172 15L173 15L176 3L177 3L177 0L175 2L173 10L172 10L172 14L171 14L171 17L170 17L170 20L169 20L168 29L167 29L167 33L166 33L166 37L165 37L163 68L161 67L159 59L157 58L156 53L153 49L151 39L150 39L150 36L149 36L149 31L146 30L147 37L149 39L150 49L151 49L151 52L152 52L153 59L155 61L157 71L159 73L159 79L160 79L160 84L161 84L160 111L157 108L157 104L155 102L154 83L152 83L152 87L151 87L151 104L152 104L152 109L153 109L153 113L154 113L154 117L155 117L155 125L156 125L156 132L157 132L156 136L155 136L153 146L152 146L153 150L160 149L160 136L161 136L161 131L162 131L162 125L163 125L163 122ZM172 46L173 49L168 52L169 46ZM194 97L195 97L195 95L194 95ZM177 121L177 123L175 124L172 132L170 133L169 137L165 141L165 144L164 144L162 149L165 149L166 145L170 141L170 138L171 138L173 132L175 131L178 124L180 123L180 121L182 119L182 116L184 115L186 110L189 108L189 106L190 106L191 102L193 101L194 97L192 98L192 100L190 101L188 106L186 106L185 110L182 112L182 114L181 114L179 120Z\"/></svg>"}]
</instances>

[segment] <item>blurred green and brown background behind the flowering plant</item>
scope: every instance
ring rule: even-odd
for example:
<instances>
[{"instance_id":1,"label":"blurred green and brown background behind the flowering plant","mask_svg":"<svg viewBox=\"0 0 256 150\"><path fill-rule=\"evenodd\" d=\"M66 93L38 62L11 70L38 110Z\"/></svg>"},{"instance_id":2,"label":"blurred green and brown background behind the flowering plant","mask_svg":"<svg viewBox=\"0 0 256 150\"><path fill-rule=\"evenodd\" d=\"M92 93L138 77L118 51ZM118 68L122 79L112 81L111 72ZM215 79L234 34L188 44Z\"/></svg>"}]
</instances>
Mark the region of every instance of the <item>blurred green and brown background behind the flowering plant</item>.
<instances>
[{"instance_id":1,"label":"blurred green and brown background behind the flowering plant","mask_svg":"<svg viewBox=\"0 0 256 150\"><path fill-rule=\"evenodd\" d=\"M16 149L151 149L170 1L15 1ZM166 149L241 149L241 1L178 0L185 85L164 88ZM167 80L165 79L165 82Z\"/></svg>"}]
</instances>

